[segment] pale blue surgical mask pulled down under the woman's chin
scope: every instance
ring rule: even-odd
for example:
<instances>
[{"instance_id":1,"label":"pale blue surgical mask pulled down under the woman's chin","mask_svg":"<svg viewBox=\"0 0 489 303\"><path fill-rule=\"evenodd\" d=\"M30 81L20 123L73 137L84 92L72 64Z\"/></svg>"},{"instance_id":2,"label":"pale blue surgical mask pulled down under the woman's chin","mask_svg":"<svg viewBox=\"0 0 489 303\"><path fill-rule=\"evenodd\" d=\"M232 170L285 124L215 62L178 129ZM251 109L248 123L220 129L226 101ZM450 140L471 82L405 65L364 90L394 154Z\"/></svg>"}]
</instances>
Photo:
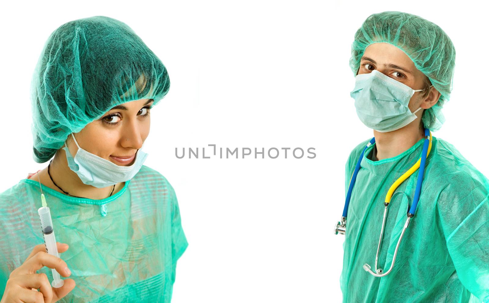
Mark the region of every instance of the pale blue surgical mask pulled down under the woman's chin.
<instances>
[{"instance_id":1,"label":"pale blue surgical mask pulled down under the woman's chin","mask_svg":"<svg viewBox=\"0 0 489 303\"><path fill-rule=\"evenodd\" d=\"M148 156L147 153L141 150L144 146L143 143L143 146L136 151L134 163L131 166L119 166L82 149L76 142L73 133L71 133L71 136L75 140L78 151L73 158L65 142L63 149L66 153L68 167L80 177L83 183L94 187L103 188L132 179L139 172Z\"/></svg>"}]
</instances>

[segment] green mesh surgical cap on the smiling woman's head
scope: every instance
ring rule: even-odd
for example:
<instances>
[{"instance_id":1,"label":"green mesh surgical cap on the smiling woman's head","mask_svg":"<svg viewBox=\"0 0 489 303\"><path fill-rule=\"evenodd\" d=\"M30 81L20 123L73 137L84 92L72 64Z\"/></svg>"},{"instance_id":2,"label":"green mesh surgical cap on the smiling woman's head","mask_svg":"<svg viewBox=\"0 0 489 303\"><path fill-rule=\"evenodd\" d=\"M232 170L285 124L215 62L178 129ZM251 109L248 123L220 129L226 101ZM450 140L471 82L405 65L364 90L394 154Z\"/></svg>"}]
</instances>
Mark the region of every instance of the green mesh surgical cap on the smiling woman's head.
<instances>
[{"instance_id":1,"label":"green mesh surgical cap on the smiling woman's head","mask_svg":"<svg viewBox=\"0 0 489 303\"><path fill-rule=\"evenodd\" d=\"M47 39L31 84L33 158L48 161L67 136L122 103L168 92L158 57L118 20L94 16L67 22Z\"/></svg>"}]
</instances>

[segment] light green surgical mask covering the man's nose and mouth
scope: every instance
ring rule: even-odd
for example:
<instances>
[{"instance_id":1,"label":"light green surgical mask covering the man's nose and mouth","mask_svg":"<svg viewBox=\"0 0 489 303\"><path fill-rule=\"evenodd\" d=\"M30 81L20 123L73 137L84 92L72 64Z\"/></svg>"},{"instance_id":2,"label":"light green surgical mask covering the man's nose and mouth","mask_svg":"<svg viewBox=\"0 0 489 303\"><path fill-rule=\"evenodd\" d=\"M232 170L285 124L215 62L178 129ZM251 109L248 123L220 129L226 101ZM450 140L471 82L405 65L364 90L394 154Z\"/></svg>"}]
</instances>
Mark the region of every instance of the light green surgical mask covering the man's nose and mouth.
<instances>
[{"instance_id":1,"label":"light green surgical mask covering the man's nose and mouth","mask_svg":"<svg viewBox=\"0 0 489 303\"><path fill-rule=\"evenodd\" d=\"M422 89L414 90L374 69L356 75L350 96L355 99L356 114L365 126L388 132L399 130L417 118L415 113L421 107L414 112L408 108L409 100L417 91Z\"/></svg>"}]
</instances>

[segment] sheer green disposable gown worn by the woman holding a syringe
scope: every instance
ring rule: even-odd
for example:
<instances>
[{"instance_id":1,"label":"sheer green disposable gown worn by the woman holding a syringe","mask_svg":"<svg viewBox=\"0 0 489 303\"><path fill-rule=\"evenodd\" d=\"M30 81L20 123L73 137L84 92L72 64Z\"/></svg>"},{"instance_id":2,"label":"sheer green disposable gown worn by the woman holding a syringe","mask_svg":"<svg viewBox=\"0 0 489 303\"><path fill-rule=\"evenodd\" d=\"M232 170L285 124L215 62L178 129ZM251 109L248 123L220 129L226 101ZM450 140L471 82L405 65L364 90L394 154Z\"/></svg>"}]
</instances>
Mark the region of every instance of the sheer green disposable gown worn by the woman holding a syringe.
<instances>
[{"instance_id":1,"label":"sheer green disposable gown worn by the woman holding a syringe","mask_svg":"<svg viewBox=\"0 0 489 303\"><path fill-rule=\"evenodd\" d=\"M170 302L177 260L188 244L165 177L143 165L123 189L101 200L42 188L56 240L69 245L60 257L76 282L58 302ZM41 206L35 177L0 194L0 294L10 272L44 243ZM38 272L52 281L51 269Z\"/></svg>"}]
</instances>

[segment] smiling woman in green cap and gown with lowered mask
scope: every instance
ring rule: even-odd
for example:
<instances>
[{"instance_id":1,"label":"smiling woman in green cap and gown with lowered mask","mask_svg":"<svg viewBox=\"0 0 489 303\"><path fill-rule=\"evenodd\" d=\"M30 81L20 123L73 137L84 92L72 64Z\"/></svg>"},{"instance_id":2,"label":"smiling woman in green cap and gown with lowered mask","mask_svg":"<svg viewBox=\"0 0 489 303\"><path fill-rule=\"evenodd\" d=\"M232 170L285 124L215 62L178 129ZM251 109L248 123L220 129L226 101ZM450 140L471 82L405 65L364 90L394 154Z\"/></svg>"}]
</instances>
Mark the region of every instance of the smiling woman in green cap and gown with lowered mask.
<instances>
[{"instance_id":1,"label":"smiling woman in green cap and gown with lowered mask","mask_svg":"<svg viewBox=\"0 0 489 303\"><path fill-rule=\"evenodd\" d=\"M33 157L49 164L0 194L2 303L171 301L187 240L175 191L143 165L169 87L123 22L95 16L49 36L31 87ZM41 193L61 259L44 248Z\"/></svg>"}]
</instances>

